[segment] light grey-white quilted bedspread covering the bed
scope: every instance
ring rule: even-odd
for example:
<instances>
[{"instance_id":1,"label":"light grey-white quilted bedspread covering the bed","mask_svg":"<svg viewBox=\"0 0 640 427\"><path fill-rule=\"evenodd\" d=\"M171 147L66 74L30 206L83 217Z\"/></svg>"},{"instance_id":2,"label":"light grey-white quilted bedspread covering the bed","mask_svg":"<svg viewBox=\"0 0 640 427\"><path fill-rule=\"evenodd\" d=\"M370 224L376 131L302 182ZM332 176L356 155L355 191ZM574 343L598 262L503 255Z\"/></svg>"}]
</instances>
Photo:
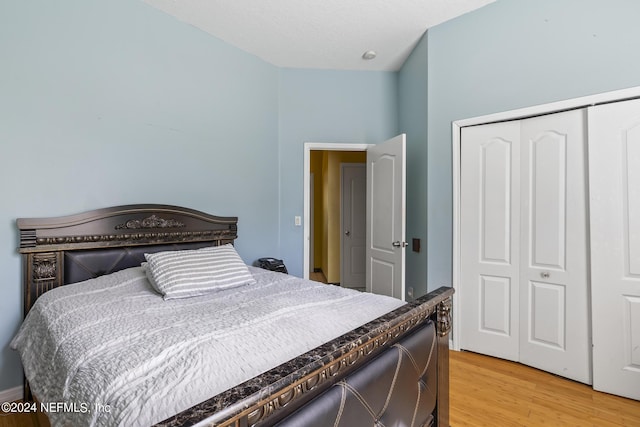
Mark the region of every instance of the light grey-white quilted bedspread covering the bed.
<instances>
[{"instance_id":1,"label":"light grey-white quilted bedspread covering the bed","mask_svg":"<svg viewBox=\"0 0 640 427\"><path fill-rule=\"evenodd\" d=\"M52 425L154 424L403 304L250 269L194 298L164 301L140 267L42 295L11 347L40 401L75 404Z\"/></svg>"}]
</instances>

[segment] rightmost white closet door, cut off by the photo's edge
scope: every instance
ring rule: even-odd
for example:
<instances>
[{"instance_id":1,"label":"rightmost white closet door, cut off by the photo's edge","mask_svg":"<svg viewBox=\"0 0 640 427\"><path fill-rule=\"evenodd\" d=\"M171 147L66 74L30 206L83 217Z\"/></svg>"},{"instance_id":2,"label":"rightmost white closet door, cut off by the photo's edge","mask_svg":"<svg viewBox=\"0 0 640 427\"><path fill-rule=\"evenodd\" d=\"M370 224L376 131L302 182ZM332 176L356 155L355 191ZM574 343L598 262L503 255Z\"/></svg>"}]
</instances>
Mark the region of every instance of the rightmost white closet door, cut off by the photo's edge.
<instances>
[{"instance_id":1,"label":"rightmost white closet door, cut off by the photo's edge","mask_svg":"<svg viewBox=\"0 0 640 427\"><path fill-rule=\"evenodd\" d=\"M593 388L640 400L640 100L589 109Z\"/></svg>"}]
</instances>

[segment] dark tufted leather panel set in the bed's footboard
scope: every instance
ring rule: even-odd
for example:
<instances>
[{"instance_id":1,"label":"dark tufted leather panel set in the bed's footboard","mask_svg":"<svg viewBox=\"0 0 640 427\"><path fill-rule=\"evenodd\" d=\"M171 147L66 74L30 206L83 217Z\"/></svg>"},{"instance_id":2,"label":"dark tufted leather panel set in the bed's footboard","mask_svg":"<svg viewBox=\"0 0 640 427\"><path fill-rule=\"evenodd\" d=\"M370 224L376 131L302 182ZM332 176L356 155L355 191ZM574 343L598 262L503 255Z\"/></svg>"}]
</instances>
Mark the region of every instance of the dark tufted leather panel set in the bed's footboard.
<instances>
[{"instance_id":1,"label":"dark tufted leather panel set in the bed's footboard","mask_svg":"<svg viewBox=\"0 0 640 427\"><path fill-rule=\"evenodd\" d=\"M433 426L438 338L432 321L277 423L277 427Z\"/></svg>"}]
</instances>

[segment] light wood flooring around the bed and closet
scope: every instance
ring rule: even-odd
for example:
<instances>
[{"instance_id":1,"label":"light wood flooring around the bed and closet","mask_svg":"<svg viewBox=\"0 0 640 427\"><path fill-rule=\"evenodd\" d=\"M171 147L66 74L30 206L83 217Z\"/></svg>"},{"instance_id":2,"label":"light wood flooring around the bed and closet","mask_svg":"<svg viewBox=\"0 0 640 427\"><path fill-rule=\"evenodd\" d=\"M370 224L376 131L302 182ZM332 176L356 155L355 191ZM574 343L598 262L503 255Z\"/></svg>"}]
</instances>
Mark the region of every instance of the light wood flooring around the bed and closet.
<instances>
[{"instance_id":1,"label":"light wood flooring around the bed and closet","mask_svg":"<svg viewBox=\"0 0 640 427\"><path fill-rule=\"evenodd\" d=\"M451 427L640 426L635 400L470 352L450 352L450 365ZM0 413L0 427L37 426L33 415Z\"/></svg>"}]
</instances>

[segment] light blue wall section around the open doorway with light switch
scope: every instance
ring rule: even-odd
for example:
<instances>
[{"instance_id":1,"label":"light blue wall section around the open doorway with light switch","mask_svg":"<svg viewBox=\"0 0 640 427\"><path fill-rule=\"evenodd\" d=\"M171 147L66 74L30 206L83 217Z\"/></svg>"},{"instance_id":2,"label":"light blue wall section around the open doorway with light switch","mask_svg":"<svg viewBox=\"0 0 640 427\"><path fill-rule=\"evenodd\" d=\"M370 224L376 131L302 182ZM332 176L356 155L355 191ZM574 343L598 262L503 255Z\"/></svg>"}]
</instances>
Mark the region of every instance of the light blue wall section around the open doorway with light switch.
<instances>
[{"instance_id":1,"label":"light blue wall section around the open doorway with light switch","mask_svg":"<svg viewBox=\"0 0 640 427\"><path fill-rule=\"evenodd\" d=\"M302 276L305 142L377 144L398 132L397 73L282 69L280 71L281 256Z\"/></svg>"}]
</instances>

